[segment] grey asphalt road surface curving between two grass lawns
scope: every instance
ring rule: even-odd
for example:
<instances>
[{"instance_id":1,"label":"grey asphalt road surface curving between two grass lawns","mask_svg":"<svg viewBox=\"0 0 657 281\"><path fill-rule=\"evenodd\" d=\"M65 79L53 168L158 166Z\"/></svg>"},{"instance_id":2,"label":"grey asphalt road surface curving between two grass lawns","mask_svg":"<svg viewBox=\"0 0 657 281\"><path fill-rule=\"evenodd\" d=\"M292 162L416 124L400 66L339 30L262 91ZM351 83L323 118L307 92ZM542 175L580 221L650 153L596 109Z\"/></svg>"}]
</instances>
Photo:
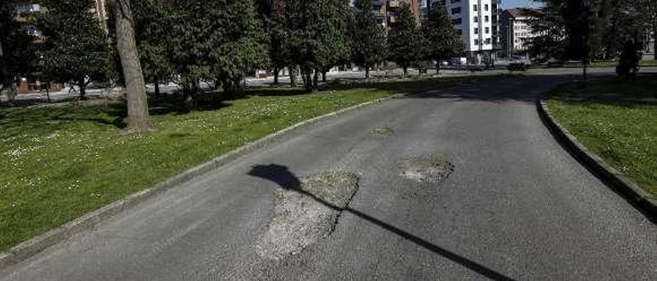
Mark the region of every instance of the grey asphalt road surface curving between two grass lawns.
<instances>
[{"instance_id":1,"label":"grey asphalt road surface curving between two grass lawns","mask_svg":"<svg viewBox=\"0 0 657 281\"><path fill-rule=\"evenodd\" d=\"M535 76L396 98L294 131L0 272L0 280L657 280L657 227L541 123ZM389 127L392 135L373 135ZM400 176L440 154L442 183ZM273 164L273 165L272 165ZM278 167L248 175L252 167ZM357 173L330 236L281 261L254 248L273 190Z\"/></svg>"}]
</instances>

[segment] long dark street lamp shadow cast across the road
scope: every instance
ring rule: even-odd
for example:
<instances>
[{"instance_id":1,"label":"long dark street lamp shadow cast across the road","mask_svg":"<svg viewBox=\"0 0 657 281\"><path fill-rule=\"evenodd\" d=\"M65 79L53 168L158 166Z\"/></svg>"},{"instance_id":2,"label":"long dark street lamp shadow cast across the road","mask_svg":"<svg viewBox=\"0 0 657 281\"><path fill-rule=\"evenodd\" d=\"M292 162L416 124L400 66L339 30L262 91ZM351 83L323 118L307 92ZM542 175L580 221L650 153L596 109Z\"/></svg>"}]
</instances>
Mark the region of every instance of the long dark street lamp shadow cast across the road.
<instances>
[{"instance_id":1,"label":"long dark street lamp shadow cast across the road","mask_svg":"<svg viewBox=\"0 0 657 281\"><path fill-rule=\"evenodd\" d=\"M436 244L432 244L428 240L424 240L423 238L420 238L419 236L415 236L401 228L397 228L394 225L390 225L389 223L381 221L380 219L376 219L371 215L367 215L366 213L362 213L361 211L352 209L351 207L346 207L346 208L338 207L336 205L330 204L330 202L327 202L319 198L318 196L315 196L315 194L311 194L306 190L302 190L302 188L300 188L301 181L296 175L294 175L294 173L290 172L290 170L286 166L277 165L277 164L255 165L247 173L247 175L253 177L260 177L261 179L267 179L269 181L273 181L274 183L281 186L281 188L284 188L286 190L293 190L295 192L305 194L306 196L313 198L313 200L319 202L322 205L330 207L331 209L335 209L336 211L346 211L348 213L351 213L352 215L355 215L380 228L388 230L389 232L392 232L393 234L396 234L397 236L400 236L401 238L404 238L405 240L408 240L409 242L412 242L417 246L420 246L424 249L428 249L429 251L432 251L437 255L441 255L442 257L445 257L450 261L453 261L463 267L466 267L467 269L482 274L483 276L486 276L491 280L513 281L513 279L510 278L509 276L506 276L493 269L489 269L485 265L477 263L476 261L472 261L471 259L468 259L467 257L463 257L462 255L454 253L453 251L449 251L448 249L437 246Z\"/></svg>"}]
</instances>

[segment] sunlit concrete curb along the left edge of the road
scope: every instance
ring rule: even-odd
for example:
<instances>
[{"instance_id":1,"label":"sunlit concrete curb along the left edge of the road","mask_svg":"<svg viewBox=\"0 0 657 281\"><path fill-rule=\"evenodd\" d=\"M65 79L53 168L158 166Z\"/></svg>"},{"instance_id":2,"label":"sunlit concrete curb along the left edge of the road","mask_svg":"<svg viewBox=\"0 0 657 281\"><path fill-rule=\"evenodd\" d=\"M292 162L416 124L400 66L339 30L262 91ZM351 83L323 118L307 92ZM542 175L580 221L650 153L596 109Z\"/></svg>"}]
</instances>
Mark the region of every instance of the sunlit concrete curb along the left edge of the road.
<instances>
[{"instance_id":1,"label":"sunlit concrete curb along the left edge of the road","mask_svg":"<svg viewBox=\"0 0 657 281\"><path fill-rule=\"evenodd\" d=\"M217 169L218 167L221 167L226 163L229 163L241 156L253 152L254 150L262 148L263 146L270 144L271 142L277 141L287 133L290 133L296 129L300 129L301 127L305 127L307 125L317 123L322 119L338 116L340 114L344 114L346 112L350 112L358 108L364 108L372 104L378 104L385 100L390 100L392 98L397 98L401 96L403 96L403 94L391 95L390 97L379 98L378 100L373 100L370 102L363 102L355 106L343 108L342 110L338 110L336 112L324 114L323 116L307 119L306 121L301 121L300 123L296 123L295 125L287 127L281 131L277 131L276 133L267 135L266 137L258 139L257 141L245 144L244 146L232 150L231 152L227 152L222 156L210 160L210 162L202 163L201 165L188 169L187 171L183 171L182 173L166 181L163 181L162 183L152 186L151 188L147 188L145 190L141 190L139 192L131 194L126 198L124 198L123 200L119 200L112 204L101 207L100 209L97 209L95 211L91 211L91 213L82 215L81 217L78 217L73 221L70 221L60 227L50 230L45 234L41 234L30 240L22 242L21 244L18 244L17 246L14 246L13 248L9 249L9 251L6 253L0 253L0 270L5 269L6 267L9 267L10 265L18 263L20 261L29 259L30 257L33 257L37 253L51 246L54 246L55 244L58 244L59 242L66 240L67 238L69 238L70 236L76 233L85 230L93 230L99 227L99 225L101 225L103 221L106 221L107 219L114 217L114 215L118 215L119 213L122 213L123 211L141 202L148 200L149 198L153 198L154 196L166 190L169 190L170 188L179 186L180 184L183 184L187 181L190 181L191 179L194 179L210 171L213 171L214 169Z\"/></svg>"}]
</instances>

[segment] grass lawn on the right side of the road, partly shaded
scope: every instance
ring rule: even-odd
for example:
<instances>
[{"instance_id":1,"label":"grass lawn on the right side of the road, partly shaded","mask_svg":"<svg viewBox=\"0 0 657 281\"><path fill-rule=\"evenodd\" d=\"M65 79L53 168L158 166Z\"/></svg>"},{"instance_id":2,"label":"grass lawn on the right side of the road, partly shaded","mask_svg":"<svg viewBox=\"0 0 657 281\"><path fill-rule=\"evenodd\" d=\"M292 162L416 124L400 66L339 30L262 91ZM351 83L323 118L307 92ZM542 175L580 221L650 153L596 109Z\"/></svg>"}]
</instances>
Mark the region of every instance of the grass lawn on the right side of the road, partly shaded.
<instances>
[{"instance_id":1,"label":"grass lawn on the right side of the road, partly shaded","mask_svg":"<svg viewBox=\"0 0 657 281\"><path fill-rule=\"evenodd\" d=\"M657 75L553 89L550 110L568 131L657 198Z\"/></svg>"}]
</instances>

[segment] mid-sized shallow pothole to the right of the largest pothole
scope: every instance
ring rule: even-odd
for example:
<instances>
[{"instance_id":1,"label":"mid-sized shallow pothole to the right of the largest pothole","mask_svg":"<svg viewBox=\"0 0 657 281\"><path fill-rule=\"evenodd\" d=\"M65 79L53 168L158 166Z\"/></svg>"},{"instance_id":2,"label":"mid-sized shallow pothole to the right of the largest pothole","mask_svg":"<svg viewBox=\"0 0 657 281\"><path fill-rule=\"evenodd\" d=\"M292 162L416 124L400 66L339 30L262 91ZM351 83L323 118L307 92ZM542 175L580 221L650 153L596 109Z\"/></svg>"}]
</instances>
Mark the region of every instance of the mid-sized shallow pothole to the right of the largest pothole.
<instances>
[{"instance_id":1,"label":"mid-sized shallow pothole to the right of the largest pothole","mask_svg":"<svg viewBox=\"0 0 657 281\"><path fill-rule=\"evenodd\" d=\"M419 183L440 183L454 171L454 165L438 154L406 156L399 161L401 177Z\"/></svg>"}]
</instances>

